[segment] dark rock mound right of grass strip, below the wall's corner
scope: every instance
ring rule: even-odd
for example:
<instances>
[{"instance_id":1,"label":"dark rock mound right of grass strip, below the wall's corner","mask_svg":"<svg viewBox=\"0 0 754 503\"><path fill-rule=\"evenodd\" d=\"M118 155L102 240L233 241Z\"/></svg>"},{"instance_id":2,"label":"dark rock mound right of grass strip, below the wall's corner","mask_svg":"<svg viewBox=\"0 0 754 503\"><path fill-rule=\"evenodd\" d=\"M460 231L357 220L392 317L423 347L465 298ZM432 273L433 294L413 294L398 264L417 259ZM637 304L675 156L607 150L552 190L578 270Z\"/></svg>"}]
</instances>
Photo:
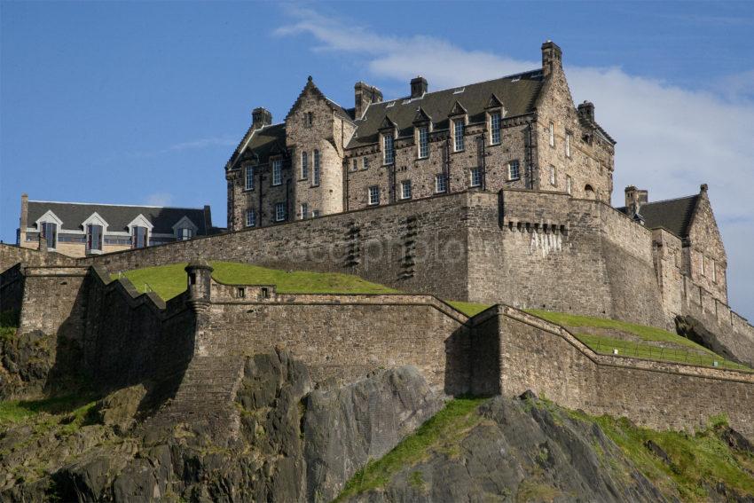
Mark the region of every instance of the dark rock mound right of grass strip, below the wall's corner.
<instances>
[{"instance_id":1,"label":"dark rock mound right of grass strip, below the wall's corner","mask_svg":"<svg viewBox=\"0 0 754 503\"><path fill-rule=\"evenodd\" d=\"M454 452L432 452L360 502L664 501L601 428L536 399L496 397Z\"/></svg>"}]
</instances>

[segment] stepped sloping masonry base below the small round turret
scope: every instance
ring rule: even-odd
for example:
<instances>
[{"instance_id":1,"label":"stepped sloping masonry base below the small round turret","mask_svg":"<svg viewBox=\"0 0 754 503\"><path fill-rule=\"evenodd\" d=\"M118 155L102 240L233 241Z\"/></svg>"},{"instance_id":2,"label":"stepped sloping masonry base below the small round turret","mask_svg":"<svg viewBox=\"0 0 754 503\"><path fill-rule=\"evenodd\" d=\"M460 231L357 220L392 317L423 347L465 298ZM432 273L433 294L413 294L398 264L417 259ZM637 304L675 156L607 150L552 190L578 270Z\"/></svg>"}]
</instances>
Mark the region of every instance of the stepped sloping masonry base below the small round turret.
<instances>
[{"instance_id":1,"label":"stepped sloping masonry base below the small round turret","mask_svg":"<svg viewBox=\"0 0 754 503\"><path fill-rule=\"evenodd\" d=\"M239 414L233 401L243 374L244 357L194 357L176 396L145 421L146 431L185 423L195 433L216 439L237 436Z\"/></svg>"}]
</instances>

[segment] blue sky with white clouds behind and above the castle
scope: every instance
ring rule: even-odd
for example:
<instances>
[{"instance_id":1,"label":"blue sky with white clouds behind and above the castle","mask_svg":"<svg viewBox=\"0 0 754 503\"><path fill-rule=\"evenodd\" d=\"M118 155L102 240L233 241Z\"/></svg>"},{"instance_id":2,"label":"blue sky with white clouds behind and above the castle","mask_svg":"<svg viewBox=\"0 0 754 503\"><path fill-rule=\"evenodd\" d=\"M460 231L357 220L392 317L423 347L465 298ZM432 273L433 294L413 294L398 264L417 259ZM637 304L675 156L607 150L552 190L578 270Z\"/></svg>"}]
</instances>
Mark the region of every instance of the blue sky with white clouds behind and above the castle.
<instances>
[{"instance_id":1,"label":"blue sky with white clouds behind and above the castle","mask_svg":"<svg viewBox=\"0 0 754 503\"><path fill-rule=\"evenodd\" d=\"M0 238L36 200L211 204L265 106L307 75L343 106L538 66L559 43L578 101L617 139L616 193L710 196L731 304L754 318L754 3L0 4Z\"/></svg>"}]
</instances>

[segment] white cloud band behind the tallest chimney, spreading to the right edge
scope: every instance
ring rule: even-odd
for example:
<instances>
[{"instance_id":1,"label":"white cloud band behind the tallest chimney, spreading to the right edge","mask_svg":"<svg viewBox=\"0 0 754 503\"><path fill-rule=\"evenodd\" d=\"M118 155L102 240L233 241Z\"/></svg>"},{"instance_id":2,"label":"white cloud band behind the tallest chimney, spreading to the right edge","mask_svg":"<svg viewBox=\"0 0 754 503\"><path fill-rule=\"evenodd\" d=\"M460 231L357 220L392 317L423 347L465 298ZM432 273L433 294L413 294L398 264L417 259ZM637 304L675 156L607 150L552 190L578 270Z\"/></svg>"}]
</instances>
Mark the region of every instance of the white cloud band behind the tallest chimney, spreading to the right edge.
<instances>
[{"instance_id":1,"label":"white cloud band behind the tallest chimney, spreading to the right edge","mask_svg":"<svg viewBox=\"0 0 754 503\"><path fill-rule=\"evenodd\" d=\"M378 35L354 22L295 8L292 25L277 35L310 35L315 51L357 55L356 62L382 79L406 83L417 74L433 89L482 81L538 67L447 41L413 35ZM568 60L568 48L564 48ZM537 54L538 56L538 54ZM754 318L754 69L687 90L628 75L618 67L567 67L574 99L593 101L598 122L617 140L614 202L623 187L640 185L650 200L697 193L710 185L715 215L727 243L729 295L734 308ZM389 98L389 97L386 97Z\"/></svg>"}]
</instances>

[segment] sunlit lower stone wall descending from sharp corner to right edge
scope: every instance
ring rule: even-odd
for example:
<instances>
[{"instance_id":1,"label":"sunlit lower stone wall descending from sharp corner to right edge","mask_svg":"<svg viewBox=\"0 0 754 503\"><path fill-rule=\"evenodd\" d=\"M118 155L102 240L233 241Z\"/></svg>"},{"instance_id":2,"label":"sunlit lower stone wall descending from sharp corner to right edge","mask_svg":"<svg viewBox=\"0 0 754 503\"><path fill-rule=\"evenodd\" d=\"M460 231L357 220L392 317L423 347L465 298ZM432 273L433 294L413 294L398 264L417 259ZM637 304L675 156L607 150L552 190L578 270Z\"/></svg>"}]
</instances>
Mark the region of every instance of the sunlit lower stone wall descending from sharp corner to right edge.
<instances>
[{"instance_id":1,"label":"sunlit lower stone wall descending from sharp corner to right edge","mask_svg":"<svg viewBox=\"0 0 754 503\"><path fill-rule=\"evenodd\" d=\"M485 316L499 318L503 395L532 389L572 409L658 429L700 428L725 413L754 438L754 373L598 355L559 326L496 309Z\"/></svg>"}]
</instances>

